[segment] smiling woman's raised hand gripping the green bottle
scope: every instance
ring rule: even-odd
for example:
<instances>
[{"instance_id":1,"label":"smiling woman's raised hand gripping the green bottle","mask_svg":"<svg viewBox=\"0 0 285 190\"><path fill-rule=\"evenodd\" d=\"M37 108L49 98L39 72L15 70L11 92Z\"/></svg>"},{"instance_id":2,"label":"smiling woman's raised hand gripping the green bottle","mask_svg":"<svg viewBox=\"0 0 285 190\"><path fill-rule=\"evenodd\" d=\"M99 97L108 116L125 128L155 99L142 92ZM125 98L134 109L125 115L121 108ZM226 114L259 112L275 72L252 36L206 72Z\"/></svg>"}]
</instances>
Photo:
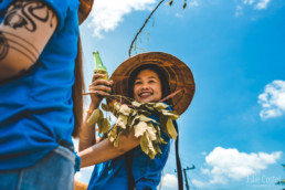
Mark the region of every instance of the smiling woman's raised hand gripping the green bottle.
<instances>
[{"instance_id":1,"label":"smiling woman's raised hand gripping the green bottle","mask_svg":"<svg viewBox=\"0 0 285 190\"><path fill-rule=\"evenodd\" d=\"M113 81L106 81L101 77L104 77L104 74L95 73L93 75L92 84L88 87L94 107L98 107L103 97L112 93Z\"/></svg>"}]
</instances>

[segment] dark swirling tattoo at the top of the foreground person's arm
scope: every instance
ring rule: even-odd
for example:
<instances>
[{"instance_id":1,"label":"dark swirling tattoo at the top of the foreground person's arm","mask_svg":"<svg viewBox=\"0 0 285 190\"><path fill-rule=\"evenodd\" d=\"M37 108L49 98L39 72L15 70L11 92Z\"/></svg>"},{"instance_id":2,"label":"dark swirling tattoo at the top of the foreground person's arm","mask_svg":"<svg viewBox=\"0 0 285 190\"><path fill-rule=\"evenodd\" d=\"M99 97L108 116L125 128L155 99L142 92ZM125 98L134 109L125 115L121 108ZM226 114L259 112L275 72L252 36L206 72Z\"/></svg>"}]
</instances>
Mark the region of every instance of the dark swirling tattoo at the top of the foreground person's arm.
<instances>
[{"instance_id":1,"label":"dark swirling tattoo at the top of the foreground person's arm","mask_svg":"<svg viewBox=\"0 0 285 190\"><path fill-rule=\"evenodd\" d=\"M13 29L25 28L28 31L34 32L36 30L35 20L43 23L50 21L50 27L52 28L54 17L54 12L41 1L19 0L9 7L3 24Z\"/></svg>"}]
</instances>

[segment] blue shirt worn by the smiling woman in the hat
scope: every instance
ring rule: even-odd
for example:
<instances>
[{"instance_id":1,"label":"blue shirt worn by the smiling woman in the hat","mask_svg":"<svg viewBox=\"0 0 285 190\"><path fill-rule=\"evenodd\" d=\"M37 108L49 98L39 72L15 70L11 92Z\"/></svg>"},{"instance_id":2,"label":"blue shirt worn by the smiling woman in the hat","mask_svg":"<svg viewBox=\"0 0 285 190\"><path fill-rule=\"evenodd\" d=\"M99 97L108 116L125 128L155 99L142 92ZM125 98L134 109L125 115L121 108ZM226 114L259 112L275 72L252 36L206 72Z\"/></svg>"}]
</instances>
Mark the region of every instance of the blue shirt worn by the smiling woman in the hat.
<instances>
[{"instance_id":1,"label":"blue shirt worn by the smiling woman in the hat","mask_svg":"<svg viewBox=\"0 0 285 190\"><path fill-rule=\"evenodd\" d=\"M158 120L155 116L151 116L151 118ZM160 182L161 171L168 159L170 146L170 138L162 130L161 137L168 144L161 144L159 146L162 154L156 156L154 159L149 158L149 156L141 150L140 146L135 148L131 169L136 182L136 190L144 190L146 188L155 190ZM109 189L128 189L125 155L94 167L88 190Z\"/></svg>"}]
</instances>

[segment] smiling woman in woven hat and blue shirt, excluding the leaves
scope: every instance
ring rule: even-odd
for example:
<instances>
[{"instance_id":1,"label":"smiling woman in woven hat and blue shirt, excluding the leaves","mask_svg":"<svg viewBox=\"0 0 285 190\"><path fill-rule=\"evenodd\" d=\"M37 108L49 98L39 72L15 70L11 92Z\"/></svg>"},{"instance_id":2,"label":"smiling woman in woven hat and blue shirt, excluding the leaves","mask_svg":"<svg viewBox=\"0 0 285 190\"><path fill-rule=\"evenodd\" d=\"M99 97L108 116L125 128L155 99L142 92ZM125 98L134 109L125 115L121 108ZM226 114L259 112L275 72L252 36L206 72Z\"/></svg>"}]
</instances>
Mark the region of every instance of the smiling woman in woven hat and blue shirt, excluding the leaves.
<instances>
[{"instance_id":1,"label":"smiling woman in woven hat and blue shirt, excluding the leaves","mask_svg":"<svg viewBox=\"0 0 285 190\"><path fill-rule=\"evenodd\" d=\"M165 103L179 115L187 109L194 93L190 68L176 56L162 52L148 52L128 59L116 68L112 81L98 78L102 76L94 74L89 85L92 104L86 119L109 92L140 103L157 103L168 96L163 98L167 99ZM150 117L159 122L156 115ZM135 137L134 130L128 136L120 135L118 147L114 147L108 139L95 144L94 128L85 120L80 136L81 167L96 165L88 190L157 189L170 146L170 138L162 129L161 137L168 144L159 145L162 154L151 159L141 150L140 139Z\"/></svg>"}]
</instances>

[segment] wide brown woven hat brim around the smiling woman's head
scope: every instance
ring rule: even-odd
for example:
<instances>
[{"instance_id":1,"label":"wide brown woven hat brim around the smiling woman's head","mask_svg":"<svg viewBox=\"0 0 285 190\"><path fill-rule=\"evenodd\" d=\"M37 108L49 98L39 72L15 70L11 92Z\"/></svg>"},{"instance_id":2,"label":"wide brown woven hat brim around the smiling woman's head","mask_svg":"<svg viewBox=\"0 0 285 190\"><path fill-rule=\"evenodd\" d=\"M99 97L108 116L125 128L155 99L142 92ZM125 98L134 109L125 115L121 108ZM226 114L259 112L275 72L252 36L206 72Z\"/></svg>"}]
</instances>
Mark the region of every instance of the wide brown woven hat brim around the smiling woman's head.
<instances>
[{"instance_id":1,"label":"wide brown woven hat brim around the smiling woman's head","mask_svg":"<svg viewBox=\"0 0 285 190\"><path fill-rule=\"evenodd\" d=\"M113 94L128 96L128 80L130 74L139 66L155 64L167 74L170 93L184 88L172 97L173 110L181 115L190 105L196 84L191 70L178 57L163 52L148 52L137 54L123 62L113 73Z\"/></svg>"}]
</instances>

